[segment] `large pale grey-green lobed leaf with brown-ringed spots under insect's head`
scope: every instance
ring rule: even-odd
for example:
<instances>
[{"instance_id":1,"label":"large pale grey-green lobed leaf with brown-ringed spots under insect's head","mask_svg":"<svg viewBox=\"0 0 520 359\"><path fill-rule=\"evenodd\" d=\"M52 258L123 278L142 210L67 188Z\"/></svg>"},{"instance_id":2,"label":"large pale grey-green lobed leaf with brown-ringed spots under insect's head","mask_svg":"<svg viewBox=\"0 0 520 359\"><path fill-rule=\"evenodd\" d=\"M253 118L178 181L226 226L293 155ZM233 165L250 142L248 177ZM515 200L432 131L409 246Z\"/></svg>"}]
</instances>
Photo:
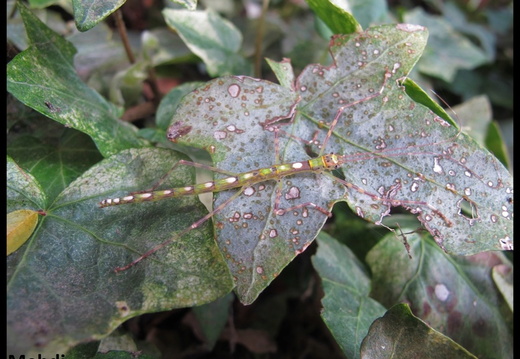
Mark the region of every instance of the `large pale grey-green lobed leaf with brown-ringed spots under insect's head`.
<instances>
[{"instance_id":1,"label":"large pale grey-green lobed leaf with brown-ringed spots under insect's head","mask_svg":"<svg viewBox=\"0 0 520 359\"><path fill-rule=\"evenodd\" d=\"M183 98L172 123L190 131L176 140L206 149L221 170L270 168L304 161L309 153L344 156L338 174L344 182L327 172L283 180L280 174L278 183L258 183L249 195L215 194L216 238L242 303L251 303L305 250L335 201L347 201L375 223L392 207L403 207L417 214L446 251L512 246L508 171L400 86L426 37L424 28L406 24L337 36L331 42L334 65L309 65L296 78L295 91L287 90L285 79L279 86L225 77ZM335 118L330 140L320 148ZM238 198L226 204L231 196ZM274 208L294 211L277 215Z\"/></svg>"}]
</instances>

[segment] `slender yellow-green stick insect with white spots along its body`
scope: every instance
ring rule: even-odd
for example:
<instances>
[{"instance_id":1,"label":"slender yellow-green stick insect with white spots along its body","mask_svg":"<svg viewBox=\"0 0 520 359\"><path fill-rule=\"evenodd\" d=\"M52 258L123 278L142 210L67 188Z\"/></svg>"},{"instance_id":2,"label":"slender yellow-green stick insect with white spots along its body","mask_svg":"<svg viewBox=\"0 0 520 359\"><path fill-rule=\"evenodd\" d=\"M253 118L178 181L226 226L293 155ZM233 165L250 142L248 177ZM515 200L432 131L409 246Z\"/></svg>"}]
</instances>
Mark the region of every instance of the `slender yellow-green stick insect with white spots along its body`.
<instances>
[{"instance_id":1,"label":"slender yellow-green stick insect with white spots along its body","mask_svg":"<svg viewBox=\"0 0 520 359\"><path fill-rule=\"evenodd\" d=\"M116 205L122 205L122 204L130 204L130 203L140 203L140 202L149 202L149 201L159 201L167 198L176 198L180 196L188 196L188 195L199 195L202 193L208 193L208 192L222 192L222 191L229 191L233 189L237 189L236 192L230 196L228 199L226 199L224 202L220 203L217 207L215 207L213 210L211 210L207 215L200 218L199 220L192 223L189 227L185 228L184 230L177 233L174 237L156 245L155 247L149 249L147 252L139 256L137 259L133 260L131 263L122 266L117 267L115 269L116 272L125 271L137 263L141 262L145 258L149 257L150 255L156 253L160 249L164 248L165 246L172 243L176 238L180 238L184 235L186 235L189 231L200 227L202 224L204 224L209 219L213 218L216 214L224 210L231 202L233 202L237 197L241 195L248 195L249 191L252 191L252 186L256 184L261 184L263 182L267 181L282 181L285 178L290 178L293 176L299 176L304 173L315 173L315 174L322 174L322 173L329 173L331 171L334 171L338 168L340 168L345 163L356 161L360 159L369 159L366 154L358 155L358 158L356 156L346 156L336 153L324 153L324 151L327 148L327 143L331 139L334 129L339 123L339 120L341 116L343 115L344 111L347 110L349 107L360 105L363 102L373 100L375 98L378 98L381 96L385 89L385 85L388 81L388 79L391 77L390 71L385 71L384 73L384 79L382 81L381 87L373 94L366 96L364 98L361 98L357 101L350 102L344 106L341 106L338 108L334 118L332 119L330 125L328 126L328 131L326 133L326 136L323 140L323 143L320 145L320 153L308 160L305 161L296 161L296 162L290 162L290 163L276 163L269 167L264 168L257 168L253 169L247 172L243 173L232 173L230 171L225 171L219 168L194 163L190 161L184 161L181 160L178 162L174 168L176 168L178 165L186 165L186 166L192 166L196 168L202 168L206 170L210 170L216 173L221 173L225 175L226 177L214 181L209 181L205 183L195 184L195 185L187 185L185 187L179 187L179 188L170 188L170 189L163 189L163 190L153 190L153 191L146 191L143 193L135 193L135 194L129 194L123 197L119 198L113 198L113 199L104 199L100 202L100 207L110 207L110 206L116 206ZM274 132L274 139L275 142L275 149L276 152L278 152L278 142L279 137L283 136L284 131L281 129L282 126L286 124L277 124L273 121L269 122L266 121L263 123L264 130L268 132ZM179 127L178 123L174 123L172 126L170 126L168 131L168 138L172 141L176 141L179 137L185 135L191 130L189 127ZM281 135L282 133L282 135ZM307 141L308 143L314 142L313 140ZM402 155L402 154L401 154ZM278 157L278 154L277 154ZM279 159L275 160L276 162L280 162ZM391 190L387 191L386 193L372 193L365 191L362 187L355 185L351 182L348 182L346 180L343 180L341 178L334 177L334 181L337 181L345 188L348 188L350 190L356 191L358 194L368 196L373 201L380 202L381 204L387 206L389 209L392 206L397 205L410 205L410 206L427 206L431 209L431 211L435 214L437 214L439 217L443 219L445 224L447 226L451 225L451 222L448 218L446 218L440 211L438 211L433 205L426 203L426 202L418 202L418 201L407 201L407 200L397 200L396 193L399 191L400 185L396 184ZM273 213L276 216L284 216L289 212L295 211L295 210L303 210L307 211L308 209L318 211L322 213L325 216L330 217L331 212L328 208L324 208L323 206L320 206L316 203L313 203L311 201L299 203L294 206L283 208L280 205L282 197L282 191L278 187L276 189L276 199L274 202L274 208L272 209ZM379 222L381 224L381 222Z\"/></svg>"}]
</instances>

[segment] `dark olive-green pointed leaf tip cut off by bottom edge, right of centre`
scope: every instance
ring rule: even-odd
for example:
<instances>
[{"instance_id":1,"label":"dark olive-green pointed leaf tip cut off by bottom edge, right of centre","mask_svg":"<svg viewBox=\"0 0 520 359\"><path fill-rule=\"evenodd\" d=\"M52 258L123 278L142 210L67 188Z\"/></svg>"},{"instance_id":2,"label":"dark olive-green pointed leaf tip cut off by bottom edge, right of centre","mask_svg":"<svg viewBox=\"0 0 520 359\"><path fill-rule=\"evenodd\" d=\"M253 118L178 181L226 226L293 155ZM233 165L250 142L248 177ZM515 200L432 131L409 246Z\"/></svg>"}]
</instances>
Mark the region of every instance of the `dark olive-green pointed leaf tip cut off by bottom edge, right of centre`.
<instances>
[{"instance_id":1,"label":"dark olive-green pointed leaf tip cut off by bottom edge, right of centre","mask_svg":"<svg viewBox=\"0 0 520 359\"><path fill-rule=\"evenodd\" d=\"M475 358L398 304L376 320L363 340L361 358Z\"/></svg>"}]
</instances>

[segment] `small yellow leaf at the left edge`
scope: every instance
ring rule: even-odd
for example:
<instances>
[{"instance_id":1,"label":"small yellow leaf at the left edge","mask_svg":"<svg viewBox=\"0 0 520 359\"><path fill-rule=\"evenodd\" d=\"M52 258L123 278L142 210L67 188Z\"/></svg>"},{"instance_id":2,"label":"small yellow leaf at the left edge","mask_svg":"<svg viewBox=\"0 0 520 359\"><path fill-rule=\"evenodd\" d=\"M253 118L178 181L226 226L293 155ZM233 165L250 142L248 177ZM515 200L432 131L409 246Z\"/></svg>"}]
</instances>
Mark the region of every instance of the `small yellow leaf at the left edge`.
<instances>
[{"instance_id":1,"label":"small yellow leaf at the left edge","mask_svg":"<svg viewBox=\"0 0 520 359\"><path fill-rule=\"evenodd\" d=\"M7 213L7 255L20 248L33 234L38 224L38 212L20 209Z\"/></svg>"}]
</instances>

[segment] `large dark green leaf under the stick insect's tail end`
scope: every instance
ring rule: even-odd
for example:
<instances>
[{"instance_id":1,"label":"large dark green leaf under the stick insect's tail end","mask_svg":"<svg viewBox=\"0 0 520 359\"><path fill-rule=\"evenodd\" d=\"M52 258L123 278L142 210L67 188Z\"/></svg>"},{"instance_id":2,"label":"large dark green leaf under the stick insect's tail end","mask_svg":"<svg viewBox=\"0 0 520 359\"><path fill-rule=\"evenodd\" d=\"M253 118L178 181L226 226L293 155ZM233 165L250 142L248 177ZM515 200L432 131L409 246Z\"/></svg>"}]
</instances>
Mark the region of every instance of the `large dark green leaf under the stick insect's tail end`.
<instances>
[{"instance_id":1,"label":"large dark green leaf under the stick insect's tail end","mask_svg":"<svg viewBox=\"0 0 520 359\"><path fill-rule=\"evenodd\" d=\"M7 257L9 353L63 353L108 335L133 316L201 305L232 289L209 223L177 238L161 256L114 273L136 253L175 237L207 213L196 197L98 207L104 198L149 187L179 159L165 149L122 151L85 172L44 208L47 215L23 257L16 255L20 250ZM179 168L164 185L193 180L191 169Z\"/></svg>"}]
</instances>

